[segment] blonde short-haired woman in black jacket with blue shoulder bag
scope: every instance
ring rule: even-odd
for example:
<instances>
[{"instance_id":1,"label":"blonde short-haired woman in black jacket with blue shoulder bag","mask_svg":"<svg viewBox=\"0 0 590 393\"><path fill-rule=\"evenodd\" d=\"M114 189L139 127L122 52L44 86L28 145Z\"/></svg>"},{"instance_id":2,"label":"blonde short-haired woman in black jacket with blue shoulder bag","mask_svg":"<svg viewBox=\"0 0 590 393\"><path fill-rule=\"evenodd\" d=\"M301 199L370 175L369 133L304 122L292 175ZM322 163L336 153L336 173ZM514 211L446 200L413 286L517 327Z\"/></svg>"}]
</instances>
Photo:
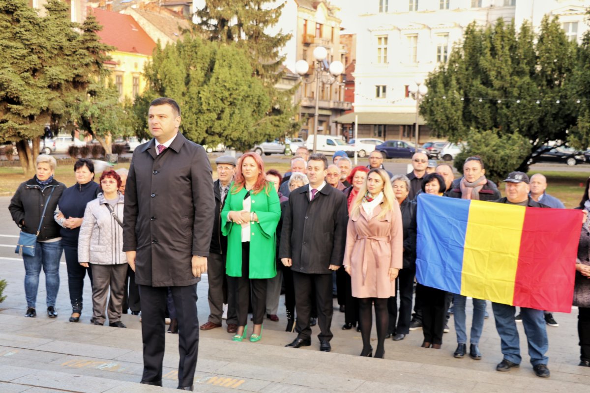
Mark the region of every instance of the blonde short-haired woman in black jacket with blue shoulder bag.
<instances>
[{"instance_id":1,"label":"blonde short-haired woman in black jacket with blue shoulder bag","mask_svg":"<svg viewBox=\"0 0 590 393\"><path fill-rule=\"evenodd\" d=\"M37 173L31 180L18 186L8 206L12 219L22 232L37 233L35 256L22 255L25 264L25 296L27 313L35 318L37 290L41 267L45 273L47 290L47 316L57 317L55 299L60 288L61 236L60 226L53 219L57 201L65 190L63 183L53 178L57 162L55 158L41 154L37 157ZM45 210L45 214L43 211ZM41 223L41 226L40 226Z\"/></svg>"}]
</instances>

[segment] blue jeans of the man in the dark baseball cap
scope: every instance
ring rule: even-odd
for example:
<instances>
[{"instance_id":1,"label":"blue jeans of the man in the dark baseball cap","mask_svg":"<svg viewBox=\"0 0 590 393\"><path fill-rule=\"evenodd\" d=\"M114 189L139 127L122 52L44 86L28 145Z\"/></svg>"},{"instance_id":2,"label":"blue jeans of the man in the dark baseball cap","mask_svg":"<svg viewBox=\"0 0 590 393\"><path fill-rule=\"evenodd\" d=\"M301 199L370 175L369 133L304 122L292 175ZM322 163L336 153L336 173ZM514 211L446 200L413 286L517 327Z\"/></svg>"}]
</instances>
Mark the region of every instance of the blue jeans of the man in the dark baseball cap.
<instances>
[{"instance_id":1,"label":"blue jeans of the man in the dark baseball cap","mask_svg":"<svg viewBox=\"0 0 590 393\"><path fill-rule=\"evenodd\" d=\"M522 356L520 356L519 336L516 321L514 321L516 308L494 302L491 303L491 308L494 311L496 330L500 335L504 359L520 364ZM533 366L547 364L549 358L545 354L549 349L549 341L543 311L521 307L520 315L525 328L526 341L529 344L530 363Z\"/></svg>"}]
</instances>

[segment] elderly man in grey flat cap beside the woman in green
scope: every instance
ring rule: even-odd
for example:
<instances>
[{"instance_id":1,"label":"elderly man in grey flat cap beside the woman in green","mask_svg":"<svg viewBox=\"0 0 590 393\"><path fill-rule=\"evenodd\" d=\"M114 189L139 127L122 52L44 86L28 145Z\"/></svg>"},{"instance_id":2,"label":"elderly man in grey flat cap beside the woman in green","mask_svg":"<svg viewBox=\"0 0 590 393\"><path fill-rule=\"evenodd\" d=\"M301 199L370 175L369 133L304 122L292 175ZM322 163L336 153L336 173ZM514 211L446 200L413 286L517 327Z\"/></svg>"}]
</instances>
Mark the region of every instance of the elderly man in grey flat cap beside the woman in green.
<instances>
[{"instance_id":1,"label":"elderly man in grey flat cap beside the woman in green","mask_svg":"<svg viewBox=\"0 0 590 393\"><path fill-rule=\"evenodd\" d=\"M238 319L235 313L235 299L232 291L227 290L225 276L225 257L227 256L227 237L221 234L219 226L221 210L225 197L230 190L230 183L234 180L236 160L232 156L221 156L215 160L217 166L217 180L213 183L215 194L215 222L209 246L209 260L207 276L209 280L209 319L201 325L201 330L221 328L223 305L227 303L227 332L235 333L238 329Z\"/></svg>"}]
</instances>

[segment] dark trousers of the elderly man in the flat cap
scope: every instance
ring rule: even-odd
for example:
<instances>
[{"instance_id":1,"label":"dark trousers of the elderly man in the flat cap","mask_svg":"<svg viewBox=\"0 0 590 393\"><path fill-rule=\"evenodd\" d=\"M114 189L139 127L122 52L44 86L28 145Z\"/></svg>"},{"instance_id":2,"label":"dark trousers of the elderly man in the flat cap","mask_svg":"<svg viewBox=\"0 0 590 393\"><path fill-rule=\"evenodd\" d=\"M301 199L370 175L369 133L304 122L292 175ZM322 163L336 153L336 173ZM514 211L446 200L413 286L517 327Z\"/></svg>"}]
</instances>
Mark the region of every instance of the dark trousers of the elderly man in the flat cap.
<instances>
[{"instance_id":1,"label":"dark trousers of the elderly man in the flat cap","mask_svg":"<svg viewBox=\"0 0 590 393\"><path fill-rule=\"evenodd\" d=\"M228 290L228 280L225 275L225 254L209 253L207 259L207 278L209 280L209 322L221 323L223 303L227 303L227 323L238 323L235 314L234 291Z\"/></svg>"}]
</instances>

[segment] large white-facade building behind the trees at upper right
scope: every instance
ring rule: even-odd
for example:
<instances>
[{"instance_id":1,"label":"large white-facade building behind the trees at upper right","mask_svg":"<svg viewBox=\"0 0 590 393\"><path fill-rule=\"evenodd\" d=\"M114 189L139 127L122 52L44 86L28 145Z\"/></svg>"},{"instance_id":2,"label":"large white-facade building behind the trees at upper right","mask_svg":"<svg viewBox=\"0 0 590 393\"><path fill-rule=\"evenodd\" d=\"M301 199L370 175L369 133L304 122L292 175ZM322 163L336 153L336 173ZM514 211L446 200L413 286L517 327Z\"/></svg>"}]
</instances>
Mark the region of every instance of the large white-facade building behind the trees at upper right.
<instances>
[{"instance_id":1,"label":"large white-facade building behind the trees at upper right","mask_svg":"<svg viewBox=\"0 0 590 393\"><path fill-rule=\"evenodd\" d=\"M448 60L467 26L484 27L498 18L516 27L538 29L544 15L558 16L569 39L580 41L590 0L368 0L356 7L361 27L356 48L355 113L336 121L350 124L358 115L359 136L414 140L416 101L408 92L415 81ZM424 124L420 118L419 124ZM419 142L430 139L421 127Z\"/></svg>"}]
</instances>

